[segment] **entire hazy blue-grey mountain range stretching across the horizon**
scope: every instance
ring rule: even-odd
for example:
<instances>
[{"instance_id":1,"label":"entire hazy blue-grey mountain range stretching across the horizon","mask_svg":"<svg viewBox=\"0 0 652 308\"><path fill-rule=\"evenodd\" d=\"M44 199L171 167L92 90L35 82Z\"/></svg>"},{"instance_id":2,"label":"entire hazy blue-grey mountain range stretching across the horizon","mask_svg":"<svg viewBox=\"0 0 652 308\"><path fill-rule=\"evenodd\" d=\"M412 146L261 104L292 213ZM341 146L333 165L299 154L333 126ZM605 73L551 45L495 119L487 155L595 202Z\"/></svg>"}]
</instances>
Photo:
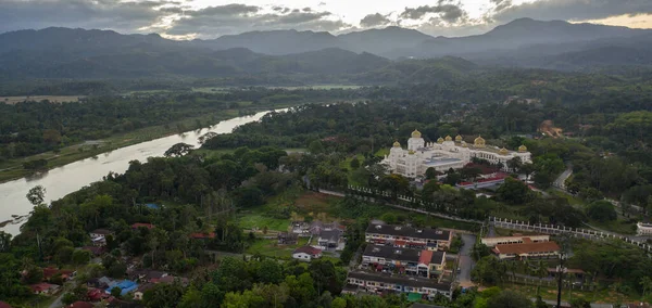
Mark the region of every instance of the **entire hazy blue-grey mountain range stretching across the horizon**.
<instances>
[{"instance_id":1,"label":"entire hazy blue-grey mountain range stretching across the horizon","mask_svg":"<svg viewBox=\"0 0 652 308\"><path fill-rule=\"evenodd\" d=\"M156 34L46 28L0 35L7 78L326 76L373 82L454 78L481 66L587 70L651 66L652 30L530 18L477 36L387 27L334 36L274 30L175 41ZM440 60L427 60L443 57ZM426 74L426 72L429 72ZM437 76L435 76L437 75ZM0 77L0 78L2 78ZM425 78L425 79L424 79ZM341 80L341 79L340 79Z\"/></svg>"}]
</instances>

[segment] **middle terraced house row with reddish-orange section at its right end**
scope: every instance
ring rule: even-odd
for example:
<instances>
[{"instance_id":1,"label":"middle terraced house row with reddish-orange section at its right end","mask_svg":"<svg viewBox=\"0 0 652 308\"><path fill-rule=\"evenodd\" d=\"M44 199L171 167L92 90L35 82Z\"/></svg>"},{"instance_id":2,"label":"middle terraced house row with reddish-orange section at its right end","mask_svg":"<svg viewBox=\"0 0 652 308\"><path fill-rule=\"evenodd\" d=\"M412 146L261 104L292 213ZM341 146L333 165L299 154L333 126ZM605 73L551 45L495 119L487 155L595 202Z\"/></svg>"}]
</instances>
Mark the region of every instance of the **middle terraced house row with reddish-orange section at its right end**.
<instances>
[{"instance_id":1,"label":"middle terraced house row with reddish-orange section at its right end","mask_svg":"<svg viewBox=\"0 0 652 308\"><path fill-rule=\"evenodd\" d=\"M411 275L434 278L444 270L446 253L367 245L362 254L362 265L377 271L399 271Z\"/></svg>"}]
</instances>

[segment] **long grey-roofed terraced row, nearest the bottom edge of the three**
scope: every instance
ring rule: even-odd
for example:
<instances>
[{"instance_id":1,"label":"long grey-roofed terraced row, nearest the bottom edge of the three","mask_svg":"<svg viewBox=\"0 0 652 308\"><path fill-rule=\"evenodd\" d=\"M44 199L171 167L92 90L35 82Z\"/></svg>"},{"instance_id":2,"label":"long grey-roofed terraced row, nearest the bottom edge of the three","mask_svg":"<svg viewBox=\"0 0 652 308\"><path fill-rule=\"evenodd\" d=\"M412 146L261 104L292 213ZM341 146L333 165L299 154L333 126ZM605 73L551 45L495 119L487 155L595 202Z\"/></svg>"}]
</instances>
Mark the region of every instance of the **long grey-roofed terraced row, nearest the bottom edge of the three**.
<instances>
[{"instance_id":1,"label":"long grey-roofed terraced row, nearest the bottom edge of the three","mask_svg":"<svg viewBox=\"0 0 652 308\"><path fill-rule=\"evenodd\" d=\"M434 298L437 294L442 294L447 298L451 298L453 294L452 284L450 283L438 283L429 279L369 273L365 271L349 272L347 283L375 294L387 292L418 293L427 298Z\"/></svg>"}]
</instances>

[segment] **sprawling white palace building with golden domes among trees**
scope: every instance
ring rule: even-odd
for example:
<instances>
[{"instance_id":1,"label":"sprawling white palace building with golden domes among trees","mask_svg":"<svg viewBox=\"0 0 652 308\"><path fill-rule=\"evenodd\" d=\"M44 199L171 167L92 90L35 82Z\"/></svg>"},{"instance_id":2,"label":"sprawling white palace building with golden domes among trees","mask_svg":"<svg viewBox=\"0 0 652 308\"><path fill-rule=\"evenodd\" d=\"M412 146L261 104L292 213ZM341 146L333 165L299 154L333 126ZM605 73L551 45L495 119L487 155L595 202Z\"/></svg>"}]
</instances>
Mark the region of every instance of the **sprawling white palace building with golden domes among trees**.
<instances>
[{"instance_id":1,"label":"sprawling white palace building with golden domes among trees","mask_svg":"<svg viewBox=\"0 0 652 308\"><path fill-rule=\"evenodd\" d=\"M489 161L492 164L501 163L507 168L507 161L521 157L523 163L531 163L531 154L525 145L518 151L509 151L497 146L487 145L485 139L478 137L473 144L464 142L462 136L439 138L437 142L426 142L418 130L412 132L408 139L408 149L401 147L398 141L385 156L383 164L388 166L393 174L409 178L423 176L428 168L444 172L450 168L460 169L471 163L473 157Z\"/></svg>"}]
</instances>

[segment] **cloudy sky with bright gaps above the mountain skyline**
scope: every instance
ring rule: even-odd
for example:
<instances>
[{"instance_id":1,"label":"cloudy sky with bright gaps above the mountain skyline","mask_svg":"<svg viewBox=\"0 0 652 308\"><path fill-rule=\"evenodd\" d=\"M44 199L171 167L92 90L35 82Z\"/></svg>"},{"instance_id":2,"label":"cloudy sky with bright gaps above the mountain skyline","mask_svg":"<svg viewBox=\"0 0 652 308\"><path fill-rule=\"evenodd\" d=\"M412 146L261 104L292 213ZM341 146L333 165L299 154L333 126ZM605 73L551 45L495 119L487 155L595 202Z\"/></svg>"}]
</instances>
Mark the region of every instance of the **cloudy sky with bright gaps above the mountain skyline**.
<instances>
[{"instance_id":1,"label":"cloudy sky with bright gaps above the mountain skyline","mask_svg":"<svg viewBox=\"0 0 652 308\"><path fill-rule=\"evenodd\" d=\"M519 17L652 28L652 0L0 0L0 33L63 26L174 39L386 26L466 36Z\"/></svg>"}]
</instances>

